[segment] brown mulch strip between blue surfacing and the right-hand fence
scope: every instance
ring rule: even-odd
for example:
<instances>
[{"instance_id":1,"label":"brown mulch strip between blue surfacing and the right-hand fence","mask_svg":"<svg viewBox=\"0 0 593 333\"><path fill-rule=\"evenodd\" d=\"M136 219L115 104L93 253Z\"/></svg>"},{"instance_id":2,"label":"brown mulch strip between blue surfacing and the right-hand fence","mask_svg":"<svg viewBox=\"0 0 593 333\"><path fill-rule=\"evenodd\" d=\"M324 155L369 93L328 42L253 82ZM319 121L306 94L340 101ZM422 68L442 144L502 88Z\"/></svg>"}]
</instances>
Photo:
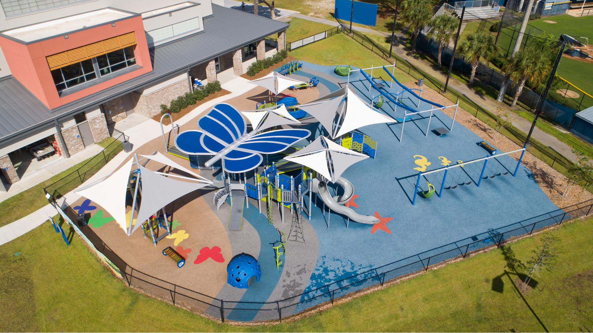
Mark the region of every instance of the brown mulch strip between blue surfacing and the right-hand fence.
<instances>
[{"instance_id":1,"label":"brown mulch strip between blue surfacing and the right-hand fence","mask_svg":"<svg viewBox=\"0 0 593 333\"><path fill-rule=\"evenodd\" d=\"M416 82L412 81L404 82L404 85L407 87L417 88ZM454 104L443 95L429 87L426 87L426 85L423 87L422 97L428 98L429 100L442 105ZM496 130L494 130L488 124L474 117L473 114L470 114L465 110L463 110L465 112L461 112L461 110L463 110L463 108L460 107L458 109L457 116L455 117L455 121L467 127L467 129L476 133L476 135L482 137L482 139L492 143L492 145L500 149L500 151L510 152L521 148L516 143L508 139L508 137L496 132ZM455 108L448 108L444 110L444 113L449 117L453 117L454 111ZM517 160L519 159L520 155L521 152L511 154L511 156ZM565 175L550 167L550 165L547 165L545 162L541 161L534 155L531 155L530 152L525 152L521 164L533 172L533 177L540 185L541 190L543 190L544 193L546 193L546 196L549 197L550 200L558 207L571 206L573 204L581 203L582 201L593 198L593 194L591 194L589 191L582 191L579 188L574 188L572 191L570 191L568 197L563 197L562 193L566 188L568 179L565 177Z\"/></svg>"}]
</instances>

